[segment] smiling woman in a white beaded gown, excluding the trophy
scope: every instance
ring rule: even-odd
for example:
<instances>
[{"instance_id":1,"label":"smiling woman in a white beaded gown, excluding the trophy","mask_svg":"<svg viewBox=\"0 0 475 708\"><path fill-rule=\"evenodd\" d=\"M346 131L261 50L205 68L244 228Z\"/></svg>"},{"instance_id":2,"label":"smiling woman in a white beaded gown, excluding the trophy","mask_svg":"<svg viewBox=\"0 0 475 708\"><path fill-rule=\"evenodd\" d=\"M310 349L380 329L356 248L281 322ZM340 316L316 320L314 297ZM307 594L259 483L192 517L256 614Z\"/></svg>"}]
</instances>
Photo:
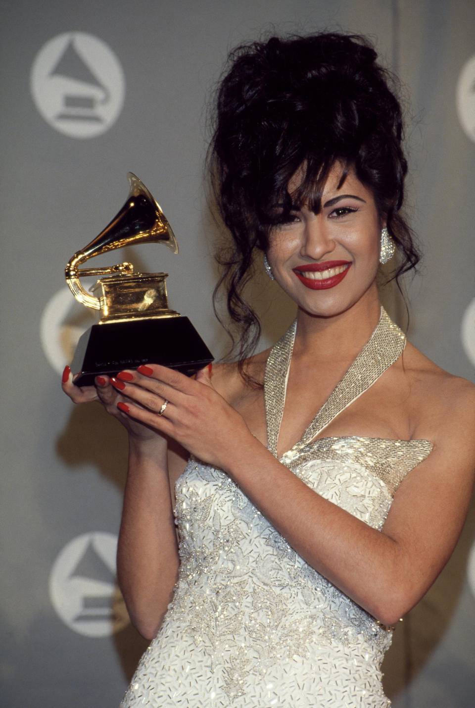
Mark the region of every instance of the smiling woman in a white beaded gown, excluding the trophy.
<instances>
[{"instance_id":1,"label":"smiling woman in a white beaded gown, excluding the trophy","mask_svg":"<svg viewBox=\"0 0 475 708\"><path fill-rule=\"evenodd\" d=\"M124 707L387 706L391 626L457 542L474 387L379 303L394 244L396 274L418 257L399 211L401 111L375 59L335 34L231 57L212 169L239 362L195 379L142 366L88 389L65 372L67 394L100 399L130 438L118 577L154 641ZM249 355L256 251L297 319Z\"/></svg>"}]
</instances>

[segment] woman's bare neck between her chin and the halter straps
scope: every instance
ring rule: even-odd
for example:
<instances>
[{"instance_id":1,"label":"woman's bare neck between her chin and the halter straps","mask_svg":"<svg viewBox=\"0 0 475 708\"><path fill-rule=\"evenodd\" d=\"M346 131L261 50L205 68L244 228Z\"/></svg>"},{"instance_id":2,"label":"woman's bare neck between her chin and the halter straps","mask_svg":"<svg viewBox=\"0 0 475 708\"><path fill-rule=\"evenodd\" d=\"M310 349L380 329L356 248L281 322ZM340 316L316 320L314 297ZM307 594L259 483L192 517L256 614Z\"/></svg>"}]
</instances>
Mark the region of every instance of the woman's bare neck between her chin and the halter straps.
<instances>
[{"instance_id":1,"label":"woman's bare neck between her chin and the halter straps","mask_svg":"<svg viewBox=\"0 0 475 708\"><path fill-rule=\"evenodd\" d=\"M299 309L294 354L309 355L321 362L353 360L372 335L380 315L375 288L372 297L361 298L336 315L321 317Z\"/></svg>"}]
</instances>

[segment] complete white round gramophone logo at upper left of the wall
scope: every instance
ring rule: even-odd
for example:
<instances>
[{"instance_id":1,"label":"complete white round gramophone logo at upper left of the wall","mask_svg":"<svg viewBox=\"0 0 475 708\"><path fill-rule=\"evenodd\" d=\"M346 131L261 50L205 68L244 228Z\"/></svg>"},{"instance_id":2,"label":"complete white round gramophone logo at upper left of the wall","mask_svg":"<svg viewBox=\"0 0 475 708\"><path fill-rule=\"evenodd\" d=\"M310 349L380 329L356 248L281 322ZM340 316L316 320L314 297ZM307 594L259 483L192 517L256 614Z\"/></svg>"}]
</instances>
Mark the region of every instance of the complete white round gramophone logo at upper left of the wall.
<instances>
[{"instance_id":1,"label":"complete white round gramophone logo at upper left of the wall","mask_svg":"<svg viewBox=\"0 0 475 708\"><path fill-rule=\"evenodd\" d=\"M67 32L41 48L31 69L35 105L55 130L76 138L101 135L117 120L125 96L122 67L102 40Z\"/></svg>"}]
</instances>

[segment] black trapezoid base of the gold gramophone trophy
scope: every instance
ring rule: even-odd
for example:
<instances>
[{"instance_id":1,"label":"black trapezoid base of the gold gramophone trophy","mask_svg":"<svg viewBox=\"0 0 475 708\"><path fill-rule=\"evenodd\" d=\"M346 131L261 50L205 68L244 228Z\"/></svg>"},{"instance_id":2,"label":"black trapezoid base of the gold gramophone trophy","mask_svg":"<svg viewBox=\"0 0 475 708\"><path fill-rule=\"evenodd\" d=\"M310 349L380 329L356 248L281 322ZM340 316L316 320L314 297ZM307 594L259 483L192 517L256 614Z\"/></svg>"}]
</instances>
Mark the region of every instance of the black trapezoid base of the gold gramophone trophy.
<instances>
[{"instance_id":1,"label":"black trapezoid base of the gold gramophone trophy","mask_svg":"<svg viewBox=\"0 0 475 708\"><path fill-rule=\"evenodd\" d=\"M79 339L71 364L76 386L142 364L161 364L192 376L213 360L188 317L94 324Z\"/></svg>"}]
</instances>

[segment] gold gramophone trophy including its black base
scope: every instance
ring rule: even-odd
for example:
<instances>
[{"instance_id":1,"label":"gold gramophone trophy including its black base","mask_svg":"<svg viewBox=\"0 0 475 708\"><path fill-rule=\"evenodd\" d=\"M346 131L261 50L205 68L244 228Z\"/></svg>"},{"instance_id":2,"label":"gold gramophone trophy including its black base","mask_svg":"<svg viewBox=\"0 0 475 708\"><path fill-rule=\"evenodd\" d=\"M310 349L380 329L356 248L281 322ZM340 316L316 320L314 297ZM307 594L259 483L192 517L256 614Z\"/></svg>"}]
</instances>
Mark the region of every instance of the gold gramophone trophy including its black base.
<instances>
[{"instance_id":1,"label":"gold gramophone trophy including its black base","mask_svg":"<svg viewBox=\"0 0 475 708\"><path fill-rule=\"evenodd\" d=\"M113 376L141 364L161 364L192 375L213 357L188 317L168 308L168 273L134 273L131 263L108 268L79 268L93 256L144 243L158 243L178 253L178 244L161 208L147 187L127 173L130 193L114 219L66 267L66 281L74 297L101 319L79 339L71 365L74 383L93 384L98 375ZM109 275L91 288L79 278Z\"/></svg>"}]
</instances>

